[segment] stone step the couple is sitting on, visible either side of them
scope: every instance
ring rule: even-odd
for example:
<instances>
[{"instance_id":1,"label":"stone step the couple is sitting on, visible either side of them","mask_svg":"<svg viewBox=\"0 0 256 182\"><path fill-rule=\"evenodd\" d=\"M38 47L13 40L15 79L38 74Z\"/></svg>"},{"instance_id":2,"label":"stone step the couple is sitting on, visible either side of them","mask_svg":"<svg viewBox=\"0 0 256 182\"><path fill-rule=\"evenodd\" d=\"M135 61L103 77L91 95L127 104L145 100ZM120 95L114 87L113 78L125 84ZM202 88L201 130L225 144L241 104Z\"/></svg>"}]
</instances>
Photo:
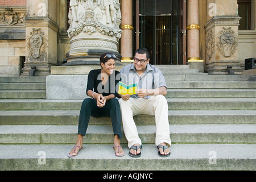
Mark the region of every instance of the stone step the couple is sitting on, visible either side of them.
<instances>
[{"instance_id":1,"label":"stone step the couple is sitting on, visible either side of them","mask_svg":"<svg viewBox=\"0 0 256 182\"><path fill-rule=\"evenodd\" d=\"M167 98L168 110L254 110L256 98ZM80 110L82 100L0 100L0 110Z\"/></svg>"}]
</instances>

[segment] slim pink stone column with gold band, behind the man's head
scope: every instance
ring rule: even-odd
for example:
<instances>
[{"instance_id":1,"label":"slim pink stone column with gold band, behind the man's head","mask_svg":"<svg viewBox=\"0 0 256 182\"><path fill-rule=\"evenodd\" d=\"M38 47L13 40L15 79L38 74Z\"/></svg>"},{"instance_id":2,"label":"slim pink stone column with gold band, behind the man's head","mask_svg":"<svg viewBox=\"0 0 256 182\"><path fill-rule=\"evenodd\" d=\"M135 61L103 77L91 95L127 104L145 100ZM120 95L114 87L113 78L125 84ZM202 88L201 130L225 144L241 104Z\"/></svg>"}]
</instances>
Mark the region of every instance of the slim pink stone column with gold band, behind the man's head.
<instances>
[{"instance_id":1,"label":"slim pink stone column with gold band, behind the man's head","mask_svg":"<svg viewBox=\"0 0 256 182\"><path fill-rule=\"evenodd\" d=\"M122 1L122 38L121 55L122 62L133 62L133 1Z\"/></svg>"}]
</instances>

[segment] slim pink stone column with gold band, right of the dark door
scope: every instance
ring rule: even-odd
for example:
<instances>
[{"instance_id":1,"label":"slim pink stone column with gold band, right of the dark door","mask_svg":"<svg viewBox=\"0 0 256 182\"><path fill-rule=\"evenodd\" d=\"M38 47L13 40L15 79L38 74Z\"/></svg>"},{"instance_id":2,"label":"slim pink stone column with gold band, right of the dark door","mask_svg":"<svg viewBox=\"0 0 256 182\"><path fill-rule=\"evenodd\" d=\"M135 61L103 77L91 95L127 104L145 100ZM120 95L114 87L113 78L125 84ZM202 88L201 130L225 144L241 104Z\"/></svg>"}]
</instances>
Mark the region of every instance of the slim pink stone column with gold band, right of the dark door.
<instances>
[{"instance_id":1,"label":"slim pink stone column with gold band, right of the dark door","mask_svg":"<svg viewBox=\"0 0 256 182\"><path fill-rule=\"evenodd\" d=\"M204 72L204 60L200 59L199 49L199 0L187 1L187 57L191 68Z\"/></svg>"}]
</instances>

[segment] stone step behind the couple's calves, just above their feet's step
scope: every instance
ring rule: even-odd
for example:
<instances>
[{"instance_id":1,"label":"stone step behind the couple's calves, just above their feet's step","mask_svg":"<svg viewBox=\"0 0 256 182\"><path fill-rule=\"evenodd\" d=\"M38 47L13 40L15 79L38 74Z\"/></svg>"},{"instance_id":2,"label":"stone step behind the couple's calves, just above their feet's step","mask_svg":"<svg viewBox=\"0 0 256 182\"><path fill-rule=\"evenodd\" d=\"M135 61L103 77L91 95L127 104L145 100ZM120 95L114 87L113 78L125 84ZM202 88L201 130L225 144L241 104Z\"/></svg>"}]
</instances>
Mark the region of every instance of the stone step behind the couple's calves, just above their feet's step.
<instances>
[{"instance_id":1,"label":"stone step behind the couple's calves, just above their feet's step","mask_svg":"<svg viewBox=\"0 0 256 182\"><path fill-rule=\"evenodd\" d=\"M72 144L76 125L2 125L1 144ZM155 126L137 126L142 143L155 143ZM123 134L121 143L127 143ZM172 143L256 143L256 125L170 125ZM89 125L84 143L113 143L112 126Z\"/></svg>"}]
</instances>

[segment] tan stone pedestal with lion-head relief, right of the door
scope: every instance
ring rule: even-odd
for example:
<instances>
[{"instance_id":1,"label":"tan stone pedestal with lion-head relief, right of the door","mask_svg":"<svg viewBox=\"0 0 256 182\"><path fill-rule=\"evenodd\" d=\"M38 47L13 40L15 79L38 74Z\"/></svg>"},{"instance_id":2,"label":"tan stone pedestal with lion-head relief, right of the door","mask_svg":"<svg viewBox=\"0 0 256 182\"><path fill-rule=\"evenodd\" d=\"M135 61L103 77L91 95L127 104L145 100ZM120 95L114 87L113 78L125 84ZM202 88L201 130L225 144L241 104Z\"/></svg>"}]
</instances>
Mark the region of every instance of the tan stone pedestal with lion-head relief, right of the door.
<instances>
[{"instance_id":1,"label":"tan stone pedestal with lion-head relief, right of the door","mask_svg":"<svg viewBox=\"0 0 256 182\"><path fill-rule=\"evenodd\" d=\"M216 16L205 26L205 69L210 75L227 75L228 65L232 66L235 75L241 75L237 49L239 20L238 16Z\"/></svg>"}]
</instances>

